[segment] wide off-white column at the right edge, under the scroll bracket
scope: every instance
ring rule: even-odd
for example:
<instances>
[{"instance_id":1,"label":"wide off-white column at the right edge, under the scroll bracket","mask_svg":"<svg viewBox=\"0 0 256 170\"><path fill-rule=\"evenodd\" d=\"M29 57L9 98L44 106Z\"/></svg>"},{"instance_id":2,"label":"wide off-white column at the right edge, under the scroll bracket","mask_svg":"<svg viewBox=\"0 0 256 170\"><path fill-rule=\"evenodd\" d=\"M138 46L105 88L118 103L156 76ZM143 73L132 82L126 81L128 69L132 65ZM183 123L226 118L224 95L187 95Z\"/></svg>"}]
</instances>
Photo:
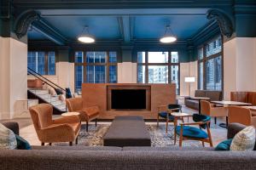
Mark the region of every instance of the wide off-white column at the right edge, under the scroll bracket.
<instances>
[{"instance_id":1,"label":"wide off-white column at the right edge, under the scroll bracket","mask_svg":"<svg viewBox=\"0 0 256 170\"><path fill-rule=\"evenodd\" d=\"M224 99L232 91L256 90L256 37L224 42Z\"/></svg>"}]
</instances>

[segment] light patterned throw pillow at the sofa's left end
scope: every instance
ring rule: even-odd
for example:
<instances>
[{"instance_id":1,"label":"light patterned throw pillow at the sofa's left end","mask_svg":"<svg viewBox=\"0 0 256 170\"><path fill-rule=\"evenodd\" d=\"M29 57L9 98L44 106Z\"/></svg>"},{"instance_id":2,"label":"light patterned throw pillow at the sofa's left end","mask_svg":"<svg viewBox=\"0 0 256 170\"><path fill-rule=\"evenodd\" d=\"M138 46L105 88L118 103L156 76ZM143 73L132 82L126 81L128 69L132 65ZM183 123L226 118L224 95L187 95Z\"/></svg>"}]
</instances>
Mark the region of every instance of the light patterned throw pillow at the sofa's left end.
<instances>
[{"instance_id":1,"label":"light patterned throw pillow at the sofa's left end","mask_svg":"<svg viewBox=\"0 0 256 170\"><path fill-rule=\"evenodd\" d=\"M15 133L0 123L0 150L15 150L16 147Z\"/></svg>"}]
</instances>

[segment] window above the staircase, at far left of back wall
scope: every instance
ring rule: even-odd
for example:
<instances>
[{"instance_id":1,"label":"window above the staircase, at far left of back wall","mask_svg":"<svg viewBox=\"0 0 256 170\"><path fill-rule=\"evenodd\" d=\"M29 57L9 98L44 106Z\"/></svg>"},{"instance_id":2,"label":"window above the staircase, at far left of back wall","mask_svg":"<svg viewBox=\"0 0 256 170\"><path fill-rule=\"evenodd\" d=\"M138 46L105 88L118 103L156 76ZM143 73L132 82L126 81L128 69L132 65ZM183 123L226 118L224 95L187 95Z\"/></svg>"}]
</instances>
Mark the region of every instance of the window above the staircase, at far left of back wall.
<instances>
[{"instance_id":1,"label":"window above the staircase, at far left of back wall","mask_svg":"<svg viewBox=\"0 0 256 170\"><path fill-rule=\"evenodd\" d=\"M29 51L27 67L41 75L55 75L55 52Z\"/></svg>"}]
</instances>

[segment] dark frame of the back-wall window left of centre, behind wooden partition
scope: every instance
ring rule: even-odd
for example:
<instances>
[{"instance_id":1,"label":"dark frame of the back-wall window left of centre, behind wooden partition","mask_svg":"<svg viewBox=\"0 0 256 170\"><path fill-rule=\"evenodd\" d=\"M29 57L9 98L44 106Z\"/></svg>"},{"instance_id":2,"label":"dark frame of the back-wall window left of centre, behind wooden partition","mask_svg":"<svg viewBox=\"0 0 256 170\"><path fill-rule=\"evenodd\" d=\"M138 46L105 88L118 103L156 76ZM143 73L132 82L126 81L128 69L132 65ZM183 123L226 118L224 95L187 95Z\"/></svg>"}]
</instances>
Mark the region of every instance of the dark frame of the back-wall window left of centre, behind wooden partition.
<instances>
[{"instance_id":1,"label":"dark frame of the back-wall window left of centre, behind wooden partition","mask_svg":"<svg viewBox=\"0 0 256 170\"><path fill-rule=\"evenodd\" d=\"M82 63L76 63L75 62L75 53L76 52L82 52L83 53L83 62ZM87 60L86 60L86 53L87 52L106 52L107 56L106 56L106 62L105 63L88 63ZM115 63L111 63L109 62L109 52L115 52L116 53L116 62ZM87 82L87 70L86 70L86 66L96 66L96 65L103 65L103 66L106 66L106 81L105 83L110 83L109 82L109 66L116 66L116 83L118 83L118 51L116 50L75 50L74 53L73 53L73 62L74 62L74 86L76 87L76 71L75 71L75 67L80 65L80 66L83 66L83 74L84 74L84 77L83 77L83 82L86 82L86 83L91 83L91 82Z\"/></svg>"}]
</instances>

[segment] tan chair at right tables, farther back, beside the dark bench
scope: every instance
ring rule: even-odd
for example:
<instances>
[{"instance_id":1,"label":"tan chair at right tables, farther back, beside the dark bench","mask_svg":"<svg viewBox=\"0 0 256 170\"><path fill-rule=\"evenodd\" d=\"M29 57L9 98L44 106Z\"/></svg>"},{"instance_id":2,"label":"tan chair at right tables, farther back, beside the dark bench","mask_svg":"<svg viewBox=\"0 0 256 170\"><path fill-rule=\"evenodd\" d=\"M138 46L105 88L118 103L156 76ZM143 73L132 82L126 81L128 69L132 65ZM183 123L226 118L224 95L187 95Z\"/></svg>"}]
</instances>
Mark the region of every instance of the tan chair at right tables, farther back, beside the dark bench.
<instances>
[{"instance_id":1,"label":"tan chair at right tables, farther back, beside the dark bench","mask_svg":"<svg viewBox=\"0 0 256 170\"><path fill-rule=\"evenodd\" d=\"M214 117L214 123L217 122L217 117L226 117L228 116L227 107L214 107L207 100L201 100L201 114Z\"/></svg>"}]
</instances>

